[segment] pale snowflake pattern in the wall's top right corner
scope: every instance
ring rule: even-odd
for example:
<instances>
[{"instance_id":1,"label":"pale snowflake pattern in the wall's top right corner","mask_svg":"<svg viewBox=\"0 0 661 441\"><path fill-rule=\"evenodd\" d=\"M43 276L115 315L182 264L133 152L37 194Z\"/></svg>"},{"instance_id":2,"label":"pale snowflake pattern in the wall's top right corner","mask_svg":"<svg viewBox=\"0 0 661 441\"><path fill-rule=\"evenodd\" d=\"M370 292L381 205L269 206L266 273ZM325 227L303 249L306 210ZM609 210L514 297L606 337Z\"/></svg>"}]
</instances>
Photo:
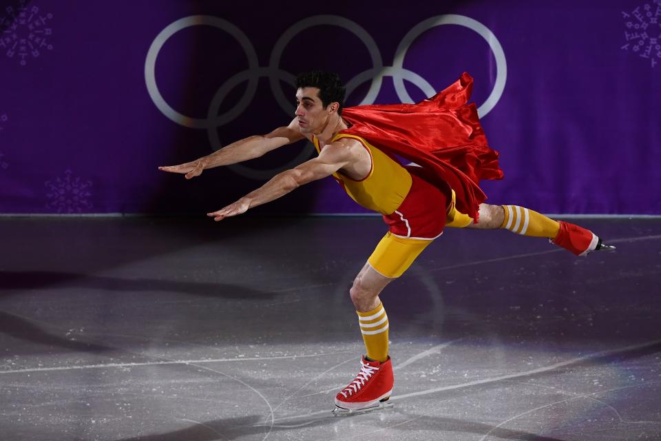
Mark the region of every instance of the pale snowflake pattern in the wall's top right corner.
<instances>
[{"instance_id":1,"label":"pale snowflake pattern in the wall's top right corner","mask_svg":"<svg viewBox=\"0 0 661 441\"><path fill-rule=\"evenodd\" d=\"M654 67L661 61L661 0L653 0L631 12L622 11L625 19L625 45Z\"/></svg>"}]
</instances>

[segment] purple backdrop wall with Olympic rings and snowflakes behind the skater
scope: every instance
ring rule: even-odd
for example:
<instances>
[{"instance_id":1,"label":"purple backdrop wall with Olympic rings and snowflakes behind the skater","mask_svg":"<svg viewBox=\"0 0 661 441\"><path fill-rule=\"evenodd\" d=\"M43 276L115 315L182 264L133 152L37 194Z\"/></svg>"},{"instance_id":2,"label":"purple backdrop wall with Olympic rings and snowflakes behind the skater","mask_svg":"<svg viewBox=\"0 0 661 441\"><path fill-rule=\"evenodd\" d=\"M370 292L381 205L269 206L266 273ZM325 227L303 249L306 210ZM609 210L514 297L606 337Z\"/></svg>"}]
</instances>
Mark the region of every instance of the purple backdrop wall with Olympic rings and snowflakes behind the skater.
<instances>
[{"instance_id":1,"label":"purple backdrop wall with Olympic rings and snowflakes behind the skater","mask_svg":"<svg viewBox=\"0 0 661 441\"><path fill-rule=\"evenodd\" d=\"M218 209L311 146L192 181L156 167L288 123L293 74L324 68L348 105L470 72L505 171L492 203L661 214L661 0L229 3L5 1L0 212ZM330 178L259 210L361 212Z\"/></svg>"}]
</instances>

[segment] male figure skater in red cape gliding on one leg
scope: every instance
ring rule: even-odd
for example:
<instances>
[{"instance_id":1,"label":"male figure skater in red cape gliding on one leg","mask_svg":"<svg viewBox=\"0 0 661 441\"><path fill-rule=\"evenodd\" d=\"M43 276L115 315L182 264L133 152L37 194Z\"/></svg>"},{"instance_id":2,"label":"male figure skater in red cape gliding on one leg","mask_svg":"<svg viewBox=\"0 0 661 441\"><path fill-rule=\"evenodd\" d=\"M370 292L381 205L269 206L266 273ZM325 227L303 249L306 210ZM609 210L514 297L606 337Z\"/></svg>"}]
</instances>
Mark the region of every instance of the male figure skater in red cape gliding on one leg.
<instances>
[{"instance_id":1,"label":"male figure skater in red cape gliding on one leg","mask_svg":"<svg viewBox=\"0 0 661 441\"><path fill-rule=\"evenodd\" d=\"M344 110L345 89L337 74L301 74L296 86L295 118L288 126L236 141L196 161L159 169L190 179L202 170L247 161L308 139L317 157L207 215L214 220L236 216L300 185L333 176L357 203L384 216L388 232L349 291L366 355L355 380L335 397L340 411L377 408L390 397L394 379L388 356L388 316L379 294L441 235L443 227L505 228L549 238L576 255L612 248L578 225L516 205L483 203L479 180L499 179L503 174L498 153L487 145L475 105L467 103L472 89L468 74L417 104ZM420 166L403 166L396 154Z\"/></svg>"}]
</instances>

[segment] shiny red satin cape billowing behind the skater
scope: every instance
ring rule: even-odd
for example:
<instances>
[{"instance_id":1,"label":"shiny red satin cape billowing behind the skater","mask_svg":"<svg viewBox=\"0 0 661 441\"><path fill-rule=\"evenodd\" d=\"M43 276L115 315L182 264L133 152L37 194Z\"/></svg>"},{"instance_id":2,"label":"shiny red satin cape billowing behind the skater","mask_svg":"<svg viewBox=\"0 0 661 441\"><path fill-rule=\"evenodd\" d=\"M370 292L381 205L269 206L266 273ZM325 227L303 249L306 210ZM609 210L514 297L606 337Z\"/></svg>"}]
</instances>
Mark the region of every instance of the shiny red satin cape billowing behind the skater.
<instances>
[{"instance_id":1,"label":"shiny red satin cape billowing behind the skater","mask_svg":"<svg viewBox=\"0 0 661 441\"><path fill-rule=\"evenodd\" d=\"M477 220L487 196L481 179L501 179L498 152L487 144L474 103L468 104L472 77L464 72L450 87L416 104L360 105L342 110L350 127L340 133L361 136L386 154L397 154L432 173L437 187L450 185L457 209Z\"/></svg>"}]
</instances>

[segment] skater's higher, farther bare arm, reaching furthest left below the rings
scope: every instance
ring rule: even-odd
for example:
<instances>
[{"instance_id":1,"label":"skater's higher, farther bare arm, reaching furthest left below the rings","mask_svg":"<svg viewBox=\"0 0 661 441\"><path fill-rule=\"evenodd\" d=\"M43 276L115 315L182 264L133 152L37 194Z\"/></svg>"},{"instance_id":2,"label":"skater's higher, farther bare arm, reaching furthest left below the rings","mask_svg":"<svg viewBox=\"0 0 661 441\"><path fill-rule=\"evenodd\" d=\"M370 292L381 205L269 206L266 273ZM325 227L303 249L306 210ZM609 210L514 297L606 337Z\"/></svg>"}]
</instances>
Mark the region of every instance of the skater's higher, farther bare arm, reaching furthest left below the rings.
<instances>
[{"instance_id":1,"label":"skater's higher, farther bare arm, reaching furthest left below the rings","mask_svg":"<svg viewBox=\"0 0 661 441\"><path fill-rule=\"evenodd\" d=\"M158 167L158 170L186 174L186 178L190 179L195 176L200 176L202 170L208 168L259 158L278 147L300 141L303 137L297 120L294 119L287 127L278 127L269 134L249 136L248 138L226 145L217 152L198 158L195 161L179 165Z\"/></svg>"}]
</instances>

